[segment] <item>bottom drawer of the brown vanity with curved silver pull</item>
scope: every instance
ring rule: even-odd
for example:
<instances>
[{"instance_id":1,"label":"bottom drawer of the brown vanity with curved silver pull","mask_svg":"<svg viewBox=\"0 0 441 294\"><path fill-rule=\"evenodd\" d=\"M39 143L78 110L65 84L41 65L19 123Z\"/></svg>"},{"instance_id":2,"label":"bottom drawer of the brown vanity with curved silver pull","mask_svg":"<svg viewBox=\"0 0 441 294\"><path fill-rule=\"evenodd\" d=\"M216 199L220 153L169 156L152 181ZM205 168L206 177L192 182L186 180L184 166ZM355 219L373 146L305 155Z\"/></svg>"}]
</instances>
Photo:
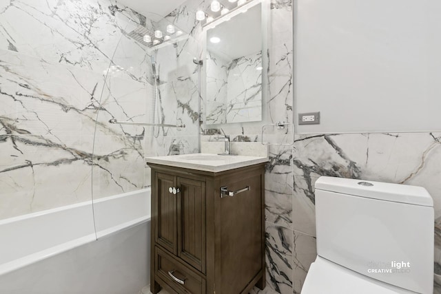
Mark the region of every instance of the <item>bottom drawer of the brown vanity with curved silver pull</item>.
<instances>
[{"instance_id":1,"label":"bottom drawer of the brown vanity with curved silver pull","mask_svg":"<svg viewBox=\"0 0 441 294\"><path fill-rule=\"evenodd\" d=\"M177 293L205 294L205 279L157 246L155 275Z\"/></svg>"}]
</instances>

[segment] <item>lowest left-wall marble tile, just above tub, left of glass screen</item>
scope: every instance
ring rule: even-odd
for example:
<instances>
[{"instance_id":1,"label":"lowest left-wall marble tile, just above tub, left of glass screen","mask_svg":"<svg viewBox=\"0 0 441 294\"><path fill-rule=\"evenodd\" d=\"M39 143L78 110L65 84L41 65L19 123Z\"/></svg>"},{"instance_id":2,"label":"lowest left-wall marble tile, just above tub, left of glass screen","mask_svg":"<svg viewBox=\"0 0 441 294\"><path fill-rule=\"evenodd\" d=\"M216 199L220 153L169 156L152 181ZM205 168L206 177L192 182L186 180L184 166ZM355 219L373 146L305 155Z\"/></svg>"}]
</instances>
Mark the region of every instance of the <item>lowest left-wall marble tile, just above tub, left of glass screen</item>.
<instances>
[{"instance_id":1,"label":"lowest left-wall marble tile, just above tub, left of glass screen","mask_svg":"<svg viewBox=\"0 0 441 294\"><path fill-rule=\"evenodd\" d=\"M91 137L4 136L0 218L91 200L90 149Z\"/></svg>"}]
</instances>

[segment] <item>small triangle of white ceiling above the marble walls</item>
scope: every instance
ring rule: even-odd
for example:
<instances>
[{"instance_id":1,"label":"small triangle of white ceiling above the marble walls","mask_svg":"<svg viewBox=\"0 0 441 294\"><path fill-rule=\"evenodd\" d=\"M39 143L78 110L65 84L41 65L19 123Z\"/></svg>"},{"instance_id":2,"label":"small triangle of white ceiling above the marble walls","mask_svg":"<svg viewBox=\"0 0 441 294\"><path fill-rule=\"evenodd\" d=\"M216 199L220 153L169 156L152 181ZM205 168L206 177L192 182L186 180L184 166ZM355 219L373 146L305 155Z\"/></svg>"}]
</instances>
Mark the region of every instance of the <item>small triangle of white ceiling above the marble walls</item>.
<instances>
[{"instance_id":1,"label":"small triangle of white ceiling above the marble walls","mask_svg":"<svg viewBox=\"0 0 441 294\"><path fill-rule=\"evenodd\" d=\"M186 0L117 0L148 19L159 21Z\"/></svg>"}]
</instances>

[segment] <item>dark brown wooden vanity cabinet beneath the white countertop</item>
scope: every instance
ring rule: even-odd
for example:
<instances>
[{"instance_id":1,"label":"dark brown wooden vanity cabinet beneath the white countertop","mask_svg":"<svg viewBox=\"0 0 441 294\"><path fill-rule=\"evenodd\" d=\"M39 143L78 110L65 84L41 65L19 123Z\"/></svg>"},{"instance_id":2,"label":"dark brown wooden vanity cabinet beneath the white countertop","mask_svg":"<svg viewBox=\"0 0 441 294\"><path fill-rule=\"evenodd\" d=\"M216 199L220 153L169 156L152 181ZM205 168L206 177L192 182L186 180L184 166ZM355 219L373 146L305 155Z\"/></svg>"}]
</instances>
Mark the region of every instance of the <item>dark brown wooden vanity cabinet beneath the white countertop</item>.
<instances>
[{"instance_id":1,"label":"dark brown wooden vanity cabinet beneath the white countertop","mask_svg":"<svg viewBox=\"0 0 441 294\"><path fill-rule=\"evenodd\" d=\"M265 288L265 163L219 172L148 165L152 293Z\"/></svg>"}]
</instances>

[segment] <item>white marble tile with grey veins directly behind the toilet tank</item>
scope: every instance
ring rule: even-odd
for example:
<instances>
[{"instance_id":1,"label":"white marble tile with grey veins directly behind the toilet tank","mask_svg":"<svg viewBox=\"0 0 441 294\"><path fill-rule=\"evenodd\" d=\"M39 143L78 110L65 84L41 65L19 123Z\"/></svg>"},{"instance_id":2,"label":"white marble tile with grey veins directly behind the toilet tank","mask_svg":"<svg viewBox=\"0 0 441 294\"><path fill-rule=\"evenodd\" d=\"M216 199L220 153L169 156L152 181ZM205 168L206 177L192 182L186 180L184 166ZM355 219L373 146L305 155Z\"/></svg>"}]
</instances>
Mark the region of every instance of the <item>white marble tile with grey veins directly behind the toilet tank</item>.
<instances>
[{"instance_id":1,"label":"white marble tile with grey veins directly behind the toilet tank","mask_svg":"<svg viewBox=\"0 0 441 294\"><path fill-rule=\"evenodd\" d=\"M338 134L299 136L294 174L338 176L425 187L440 217L440 134Z\"/></svg>"}]
</instances>

